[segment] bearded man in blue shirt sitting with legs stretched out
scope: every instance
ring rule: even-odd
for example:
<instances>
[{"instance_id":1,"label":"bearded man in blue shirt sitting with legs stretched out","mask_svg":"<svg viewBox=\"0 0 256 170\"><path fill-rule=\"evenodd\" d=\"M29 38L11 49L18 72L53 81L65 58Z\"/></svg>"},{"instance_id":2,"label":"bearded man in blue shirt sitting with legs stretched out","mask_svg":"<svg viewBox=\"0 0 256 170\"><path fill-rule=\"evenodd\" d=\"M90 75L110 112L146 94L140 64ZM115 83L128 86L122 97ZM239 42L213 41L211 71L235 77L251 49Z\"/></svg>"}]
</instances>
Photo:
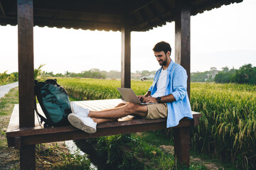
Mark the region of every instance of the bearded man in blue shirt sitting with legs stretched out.
<instances>
[{"instance_id":1,"label":"bearded man in blue shirt sitting with legs stretched out","mask_svg":"<svg viewBox=\"0 0 256 170\"><path fill-rule=\"evenodd\" d=\"M181 118L193 118L186 91L186 70L171 60L171 46L169 43L161 41L154 46L153 51L161 68L156 72L149 91L144 96L138 96L138 98L146 103L156 104L120 103L115 108L89 111L71 103L73 113L68 115L70 123L75 128L93 133L96 132L97 124L114 121L127 115L136 115L148 119L167 117L167 128L178 125Z\"/></svg>"}]
</instances>

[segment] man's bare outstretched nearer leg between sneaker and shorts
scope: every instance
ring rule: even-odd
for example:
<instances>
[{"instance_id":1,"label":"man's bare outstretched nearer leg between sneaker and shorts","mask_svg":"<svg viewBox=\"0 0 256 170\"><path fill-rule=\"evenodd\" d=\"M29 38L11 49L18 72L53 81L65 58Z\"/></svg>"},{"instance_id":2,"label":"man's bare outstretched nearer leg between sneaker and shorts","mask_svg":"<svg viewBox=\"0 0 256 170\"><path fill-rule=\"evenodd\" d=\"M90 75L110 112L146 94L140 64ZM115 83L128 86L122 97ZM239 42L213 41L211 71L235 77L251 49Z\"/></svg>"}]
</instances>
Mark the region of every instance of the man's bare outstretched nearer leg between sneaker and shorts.
<instances>
[{"instance_id":1,"label":"man's bare outstretched nearer leg between sneaker and shorts","mask_svg":"<svg viewBox=\"0 0 256 170\"><path fill-rule=\"evenodd\" d=\"M110 108L103 111L90 111L90 118L103 118L108 120L117 120L127 115L137 115L145 118L147 115L147 106L139 105L137 103L127 103L126 105L117 108Z\"/></svg>"}]
</instances>

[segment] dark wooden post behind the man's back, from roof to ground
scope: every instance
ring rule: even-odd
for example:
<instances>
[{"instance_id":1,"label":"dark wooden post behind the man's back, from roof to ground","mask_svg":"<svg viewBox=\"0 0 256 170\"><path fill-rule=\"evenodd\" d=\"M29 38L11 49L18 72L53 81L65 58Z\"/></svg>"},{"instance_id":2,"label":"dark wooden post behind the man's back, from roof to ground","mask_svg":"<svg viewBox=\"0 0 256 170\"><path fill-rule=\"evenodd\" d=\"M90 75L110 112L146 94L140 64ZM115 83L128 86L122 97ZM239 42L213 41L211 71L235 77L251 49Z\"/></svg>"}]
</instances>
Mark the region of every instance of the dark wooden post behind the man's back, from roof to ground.
<instances>
[{"instance_id":1,"label":"dark wooden post behind the man's back, from roof to ground","mask_svg":"<svg viewBox=\"0 0 256 170\"><path fill-rule=\"evenodd\" d=\"M191 9L189 0L176 0L176 18L175 18L175 62L181 64L188 74L187 91L190 98L191 82L191 38L190 38L190 18ZM174 130L174 154L176 155L178 165L189 167L189 128L176 128Z\"/></svg>"}]
</instances>

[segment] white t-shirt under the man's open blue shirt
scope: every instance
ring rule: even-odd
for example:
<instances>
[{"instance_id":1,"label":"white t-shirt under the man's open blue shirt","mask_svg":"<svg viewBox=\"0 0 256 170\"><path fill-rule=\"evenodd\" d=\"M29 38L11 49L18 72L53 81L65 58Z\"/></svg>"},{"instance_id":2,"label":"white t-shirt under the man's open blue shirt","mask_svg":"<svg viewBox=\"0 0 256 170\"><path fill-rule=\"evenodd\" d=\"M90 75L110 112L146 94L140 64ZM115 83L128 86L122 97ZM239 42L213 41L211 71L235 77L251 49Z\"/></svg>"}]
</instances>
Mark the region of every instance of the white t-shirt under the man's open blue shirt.
<instances>
[{"instance_id":1,"label":"white t-shirt under the man's open blue shirt","mask_svg":"<svg viewBox=\"0 0 256 170\"><path fill-rule=\"evenodd\" d=\"M152 95L152 97L161 97L165 96L166 91L166 79L167 79L167 69L161 69L161 74L159 80L156 82L156 93Z\"/></svg>"}]
</instances>

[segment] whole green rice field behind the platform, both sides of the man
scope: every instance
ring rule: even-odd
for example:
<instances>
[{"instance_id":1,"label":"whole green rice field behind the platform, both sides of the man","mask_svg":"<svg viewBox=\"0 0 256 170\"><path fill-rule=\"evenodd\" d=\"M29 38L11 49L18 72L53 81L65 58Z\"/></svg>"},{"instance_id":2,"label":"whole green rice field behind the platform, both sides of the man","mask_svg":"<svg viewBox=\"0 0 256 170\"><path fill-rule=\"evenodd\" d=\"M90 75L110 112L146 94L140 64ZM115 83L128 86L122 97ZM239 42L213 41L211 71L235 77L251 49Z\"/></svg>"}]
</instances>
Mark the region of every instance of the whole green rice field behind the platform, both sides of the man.
<instances>
[{"instance_id":1,"label":"whole green rice field behind the platform, both sides of the man","mask_svg":"<svg viewBox=\"0 0 256 170\"><path fill-rule=\"evenodd\" d=\"M78 100L120 98L119 80L58 79L58 84ZM151 84L132 81L132 89L145 94ZM191 83L191 108L203 115L191 130L193 149L232 162L237 169L256 169L256 86Z\"/></svg>"}]
</instances>

